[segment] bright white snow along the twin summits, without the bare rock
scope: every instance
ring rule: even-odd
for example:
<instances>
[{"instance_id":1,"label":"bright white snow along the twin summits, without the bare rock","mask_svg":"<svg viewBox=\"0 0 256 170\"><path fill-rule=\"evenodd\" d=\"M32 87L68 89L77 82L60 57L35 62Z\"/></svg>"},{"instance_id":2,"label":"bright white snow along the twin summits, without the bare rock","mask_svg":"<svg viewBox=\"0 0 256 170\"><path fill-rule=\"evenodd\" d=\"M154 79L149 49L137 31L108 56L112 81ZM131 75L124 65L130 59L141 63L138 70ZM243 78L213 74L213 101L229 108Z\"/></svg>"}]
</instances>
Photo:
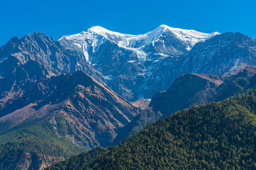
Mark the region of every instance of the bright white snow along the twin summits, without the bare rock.
<instances>
[{"instance_id":1,"label":"bright white snow along the twin summits, without the bare rock","mask_svg":"<svg viewBox=\"0 0 256 170\"><path fill-rule=\"evenodd\" d=\"M82 52L86 61L88 62L92 62L93 60L90 59L91 56L89 55L89 50L91 50L93 53L97 52L97 48L105 41L111 41L120 48L131 51L132 53L136 54L138 60L145 62L145 60L148 59L148 54L144 51L145 46L155 46L155 43L159 41L159 38L161 38L163 33L166 31L171 32L177 39L182 41L186 45L187 50L190 50L196 43L200 41L205 41L205 39L209 39L217 34L220 34L219 32L207 34L195 30L186 30L169 27L167 25L160 25L153 31L145 34L132 35L109 31L103 27L95 26L79 34L63 36L58 41L60 41L61 45L65 46L65 48L69 50ZM163 45L163 48L166 48L166 46L164 46L164 41L161 41L160 43ZM175 52L175 49L173 49L173 54L175 53L177 52ZM169 56L167 53L164 53L163 50L161 50L159 55L162 57Z\"/></svg>"}]
</instances>

